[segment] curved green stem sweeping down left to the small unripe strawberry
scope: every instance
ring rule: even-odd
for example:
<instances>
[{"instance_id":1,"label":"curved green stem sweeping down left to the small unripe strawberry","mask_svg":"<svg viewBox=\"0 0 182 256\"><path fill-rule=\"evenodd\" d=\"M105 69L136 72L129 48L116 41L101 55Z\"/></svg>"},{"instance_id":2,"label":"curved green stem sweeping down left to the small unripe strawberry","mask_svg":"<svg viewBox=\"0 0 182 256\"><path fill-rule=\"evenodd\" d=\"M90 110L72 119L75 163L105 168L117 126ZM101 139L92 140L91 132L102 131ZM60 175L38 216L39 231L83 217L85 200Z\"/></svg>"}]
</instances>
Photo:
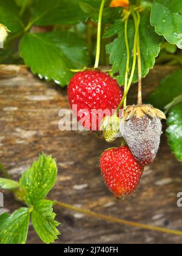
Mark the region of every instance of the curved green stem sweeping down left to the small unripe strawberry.
<instances>
[{"instance_id":1,"label":"curved green stem sweeping down left to the small unripe strawberry","mask_svg":"<svg viewBox=\"0 0 182 256\"><path fill-rule=\"evenodd\" d=\"M132 65L132 71L131 71L131 74L130 74L130 79L129 79L129 82L127 84L127 89L126 89L126 91L124 93L123 99L121 99L121 102L118 105L117 113L119 113L120 108L122 107L122 105L124 103L124 99L126 98L128 92L130 90L130 86L132 84L133 76L134 76L134 73L135 73L135 66L136 66L136 43L137 43L137 38L138 38L138 30L139 30L139 26L140 26L140 20L138 20L135 12L132 13L132 16L133 16L133 20L134 20L134 23L135 23L135 38L134 38L134 43L133 43L133 65Z\"/></svg>"}]
</instances>

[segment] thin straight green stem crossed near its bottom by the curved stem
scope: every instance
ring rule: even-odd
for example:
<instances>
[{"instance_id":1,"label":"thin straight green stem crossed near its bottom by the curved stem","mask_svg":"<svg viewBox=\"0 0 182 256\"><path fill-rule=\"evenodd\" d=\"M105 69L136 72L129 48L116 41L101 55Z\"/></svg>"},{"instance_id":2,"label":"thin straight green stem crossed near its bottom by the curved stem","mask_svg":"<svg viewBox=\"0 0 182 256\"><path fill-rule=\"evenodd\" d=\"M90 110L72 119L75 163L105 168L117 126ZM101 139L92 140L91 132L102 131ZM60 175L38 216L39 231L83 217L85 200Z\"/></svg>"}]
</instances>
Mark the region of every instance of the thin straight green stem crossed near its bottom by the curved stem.
<instances>
[{"instance_id":1,"label":"thin straight green stem crossed near its bottom by the curved stem","mask_svg":"<svg viewBox=\"0 0 182 256\"><path fill-rule=\"evenodd\" d=\"M127 37L127 25L128 25L128 19L124 22L124 38L125 38L126 52L127 52L126 72L125 72L125 80L124 80L124 93L126 93L126 90L127 90L127 81L128 81L129 65L130 65L130 48L129 48L129 41ZM127 105L127 102L125 98L124 107L126 107L126 105Z\"/></svg>"}]
</instances>

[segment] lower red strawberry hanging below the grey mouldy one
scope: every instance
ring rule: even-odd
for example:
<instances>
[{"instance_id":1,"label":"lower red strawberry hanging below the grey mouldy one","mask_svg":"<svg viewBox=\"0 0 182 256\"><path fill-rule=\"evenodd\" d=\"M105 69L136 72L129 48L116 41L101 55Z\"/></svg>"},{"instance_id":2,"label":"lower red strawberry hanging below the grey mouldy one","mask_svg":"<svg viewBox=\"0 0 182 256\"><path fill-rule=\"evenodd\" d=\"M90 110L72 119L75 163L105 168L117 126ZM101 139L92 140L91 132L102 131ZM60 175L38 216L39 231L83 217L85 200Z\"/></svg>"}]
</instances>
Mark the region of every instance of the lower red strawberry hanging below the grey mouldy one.
<instances>
[{"instance_id":1,"label":"lower red strawberry hanging below the grey mouldy one","mask_svg":"<svg viewBox=\"0 0 182 256\"><path fill-rule=\"evenodd\" d=\"M136 190L144 171L144 166L126 146L105 151L100 167L107 187L118 198L129 196Z\"/></svg>"}]
</instances>

